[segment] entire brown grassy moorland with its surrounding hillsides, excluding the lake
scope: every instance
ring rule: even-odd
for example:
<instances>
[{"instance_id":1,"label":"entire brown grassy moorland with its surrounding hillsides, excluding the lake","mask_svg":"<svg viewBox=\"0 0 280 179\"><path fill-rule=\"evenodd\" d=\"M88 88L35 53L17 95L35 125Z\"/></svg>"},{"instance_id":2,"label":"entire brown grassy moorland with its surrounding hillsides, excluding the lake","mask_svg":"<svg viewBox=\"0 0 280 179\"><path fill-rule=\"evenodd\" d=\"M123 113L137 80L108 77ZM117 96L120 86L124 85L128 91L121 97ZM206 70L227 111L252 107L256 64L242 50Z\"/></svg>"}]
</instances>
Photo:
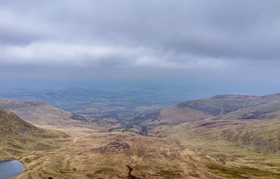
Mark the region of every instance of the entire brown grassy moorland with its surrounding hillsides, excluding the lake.
<instances>
[{"instance_id":1,"label":"entire brown grassy moorland with its surrounding hillsides, excluding the lake","mask_svg":"<svg viewBox=\"0 0 280 179\"><path fill-rule=\"evenodd\" d=\"M280 178L279 100L219 95L184 102L143 120L145 136L69 118L41 126L63 132L45 130L1 110L0 159L25 164L17 177L24 179Z\"/></svg>"}]
</instances>

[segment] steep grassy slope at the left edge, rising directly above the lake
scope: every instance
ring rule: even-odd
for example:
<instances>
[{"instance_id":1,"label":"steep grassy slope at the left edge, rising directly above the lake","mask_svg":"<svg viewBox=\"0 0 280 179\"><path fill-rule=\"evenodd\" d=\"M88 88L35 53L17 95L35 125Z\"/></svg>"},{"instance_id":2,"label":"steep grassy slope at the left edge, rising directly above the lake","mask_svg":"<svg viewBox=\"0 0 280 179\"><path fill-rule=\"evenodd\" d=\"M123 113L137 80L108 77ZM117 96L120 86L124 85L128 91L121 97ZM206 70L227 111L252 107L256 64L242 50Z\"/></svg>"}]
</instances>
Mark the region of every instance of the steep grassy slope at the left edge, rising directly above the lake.
<instances>
[{"instance_id":1,"label":"steep grassy slope at the left edge, rising directly above the lake","mask_svg":"<svg viewBox=\"0 0 280 179\"><path fill-rule=\"evenodd\" d=\"M0 109L0 159L19 157L30 150L58 148L59 145L50 139L65 137L68 135L35 127L15 114Z\"/></svg>"}]
</instances>

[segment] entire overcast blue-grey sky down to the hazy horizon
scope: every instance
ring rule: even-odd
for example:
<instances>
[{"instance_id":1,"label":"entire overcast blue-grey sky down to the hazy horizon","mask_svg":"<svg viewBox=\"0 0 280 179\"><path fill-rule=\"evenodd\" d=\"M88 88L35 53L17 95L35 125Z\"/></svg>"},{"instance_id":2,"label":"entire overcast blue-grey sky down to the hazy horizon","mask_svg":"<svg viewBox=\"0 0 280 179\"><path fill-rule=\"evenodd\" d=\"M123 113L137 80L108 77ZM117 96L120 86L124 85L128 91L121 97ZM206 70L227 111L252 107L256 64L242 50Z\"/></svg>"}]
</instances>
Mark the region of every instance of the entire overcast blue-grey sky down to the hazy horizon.
<instances>
[{"instance_id":1,"label":"entire overcast blue-grey sky down to the hazy horizon","mask_svg":"<svg viewBox=\"0 0 280 179\"><path fill-rule=\"evenodd\" d=\"M277 0L0 1L2 84L141 79L277 91L279 47Z\"/></svg>"}]
</instances>

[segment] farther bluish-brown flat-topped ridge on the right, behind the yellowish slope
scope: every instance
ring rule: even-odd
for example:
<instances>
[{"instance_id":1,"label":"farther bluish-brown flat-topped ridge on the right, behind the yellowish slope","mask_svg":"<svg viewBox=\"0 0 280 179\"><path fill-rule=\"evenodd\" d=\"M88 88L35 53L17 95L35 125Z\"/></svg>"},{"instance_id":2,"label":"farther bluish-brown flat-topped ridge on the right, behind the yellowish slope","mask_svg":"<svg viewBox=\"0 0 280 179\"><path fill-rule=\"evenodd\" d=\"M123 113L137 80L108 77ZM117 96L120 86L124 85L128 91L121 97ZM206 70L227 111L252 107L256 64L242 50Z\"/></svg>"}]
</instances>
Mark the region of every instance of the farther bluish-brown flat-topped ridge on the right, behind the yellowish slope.
<instances>
[{"instance_id":1,"label":"farther bluish-brown flat-topped ridge on the right, behind the yellowish slope","mask_svg":"<svg viewBox=\"0 0 280 179\"><path fill-rule=\"evenodd\" d=\"M141 118L144 125L177 125L215 119L253 119L280 116L280 95L216 95L212 98L182 102ZM261 116L262 115L262 116Z\"/></svg>"}]
</instances>

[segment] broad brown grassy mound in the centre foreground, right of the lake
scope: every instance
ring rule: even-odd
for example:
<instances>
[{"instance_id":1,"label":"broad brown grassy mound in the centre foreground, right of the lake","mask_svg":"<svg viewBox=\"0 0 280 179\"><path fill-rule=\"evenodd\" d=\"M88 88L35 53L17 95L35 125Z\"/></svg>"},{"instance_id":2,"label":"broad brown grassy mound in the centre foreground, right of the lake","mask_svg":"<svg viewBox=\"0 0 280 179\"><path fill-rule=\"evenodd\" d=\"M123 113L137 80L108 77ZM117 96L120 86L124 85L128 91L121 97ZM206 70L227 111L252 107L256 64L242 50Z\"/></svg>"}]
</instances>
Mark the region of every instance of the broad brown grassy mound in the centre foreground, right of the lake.
<instances>
[{"instance_id":1,"label":"broad brown grassy mound in the centre foreground, right of the lake","mask_svg":"<svg viewBox=\"0 0 280 179\"><path fill-rule=\"evenodd\" d=\"M167 139L99 133L78 137L66 148L22 157L27 171L18 178L205 178L221 179L203 154Z\"/></svg>"}]
</instances>

